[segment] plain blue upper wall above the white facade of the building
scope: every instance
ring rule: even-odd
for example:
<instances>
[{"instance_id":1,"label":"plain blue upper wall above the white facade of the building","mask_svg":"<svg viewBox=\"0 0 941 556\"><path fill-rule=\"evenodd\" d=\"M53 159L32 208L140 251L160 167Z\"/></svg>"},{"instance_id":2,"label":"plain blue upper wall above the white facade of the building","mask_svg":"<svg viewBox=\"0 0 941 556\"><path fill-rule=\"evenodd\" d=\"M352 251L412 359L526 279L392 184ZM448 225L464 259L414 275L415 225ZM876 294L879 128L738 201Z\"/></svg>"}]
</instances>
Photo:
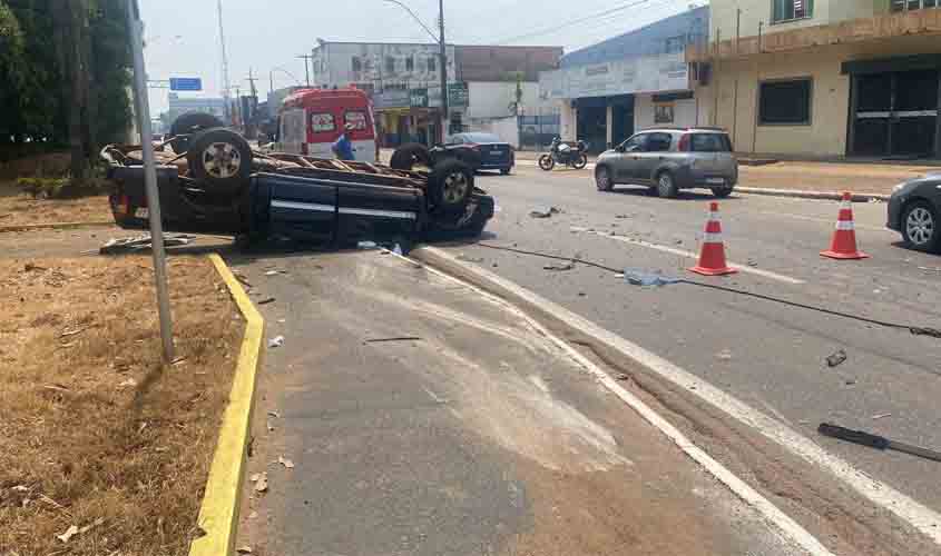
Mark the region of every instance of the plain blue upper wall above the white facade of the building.
<instances>
[{"instance_id":1,"label":"plain blue upper wall above the white facade of the building","mask_svg":"<svg viewBox=\"0 0 941 556\"><path fill-rule=\"evenodd\" d=\"M709 8L704 6L661 19L620 37L576 50L562 57L560 66L590 66L638 56L663 54L667 39L683 37L685 44L705 42L709 32Z\"/></svg>"}]
</instances>

